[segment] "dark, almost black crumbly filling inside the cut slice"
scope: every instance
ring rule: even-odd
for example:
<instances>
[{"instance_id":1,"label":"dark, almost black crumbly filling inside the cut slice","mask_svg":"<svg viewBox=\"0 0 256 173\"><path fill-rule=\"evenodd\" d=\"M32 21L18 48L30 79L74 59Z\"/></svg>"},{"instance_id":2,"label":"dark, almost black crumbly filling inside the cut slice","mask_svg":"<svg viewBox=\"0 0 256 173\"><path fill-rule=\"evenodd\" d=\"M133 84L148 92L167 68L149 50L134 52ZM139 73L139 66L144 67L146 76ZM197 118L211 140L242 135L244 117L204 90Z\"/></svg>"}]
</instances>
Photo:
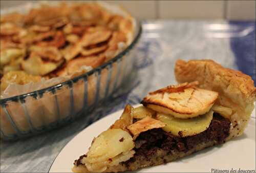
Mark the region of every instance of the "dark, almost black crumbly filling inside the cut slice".
<instances>
[{"instance_id":1,"label":"dark, almost black crumbly filling inside the cut slice","mask_svg":"<svg viewBox=\"0 0 256 173\"><path fill-rule=\"evenodd\" d=\"M146 160L160 148L166 152L166 155L169 155L177 150L186 153L188 150L202 142L214 141L215 144L224 143L229 135L229 127L229 119L214 113L214 117L206 131L194 136L182 137L182 132L179 133L180 136L174 136L164 132L162 128L151 129L150 131L143 132L139 135L135 140L134 150L136 153L134 157L123 162L123 164L129 165L134 162L136 158ZM75 161L77 166L82 164L81 160L83 157L86 157L86 155L81 156Z\"/></svg>"}]
</instances>

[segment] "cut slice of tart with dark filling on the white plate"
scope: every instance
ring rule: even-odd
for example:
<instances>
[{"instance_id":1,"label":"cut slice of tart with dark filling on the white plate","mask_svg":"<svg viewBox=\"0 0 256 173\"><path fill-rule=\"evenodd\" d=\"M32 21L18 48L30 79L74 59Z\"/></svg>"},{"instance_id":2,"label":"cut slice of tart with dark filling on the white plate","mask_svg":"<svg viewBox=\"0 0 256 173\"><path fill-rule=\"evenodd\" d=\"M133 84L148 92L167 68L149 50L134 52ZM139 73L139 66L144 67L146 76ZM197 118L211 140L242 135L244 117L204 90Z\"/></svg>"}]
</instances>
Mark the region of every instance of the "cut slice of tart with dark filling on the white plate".
<instances>
[{"instance_id":1,"label":"cut slice of tart with dark filling on the white plate","mask_svg":"<svg viewBox=\"0 0 256 173\"><path fill-rule=\"evenodd\" d=\"M149 93L93 139L74 172L120 172L174 161L241 135L254 109L251 78L211 60L178 60L180 84Z\"/></svg>"}]
</instances>

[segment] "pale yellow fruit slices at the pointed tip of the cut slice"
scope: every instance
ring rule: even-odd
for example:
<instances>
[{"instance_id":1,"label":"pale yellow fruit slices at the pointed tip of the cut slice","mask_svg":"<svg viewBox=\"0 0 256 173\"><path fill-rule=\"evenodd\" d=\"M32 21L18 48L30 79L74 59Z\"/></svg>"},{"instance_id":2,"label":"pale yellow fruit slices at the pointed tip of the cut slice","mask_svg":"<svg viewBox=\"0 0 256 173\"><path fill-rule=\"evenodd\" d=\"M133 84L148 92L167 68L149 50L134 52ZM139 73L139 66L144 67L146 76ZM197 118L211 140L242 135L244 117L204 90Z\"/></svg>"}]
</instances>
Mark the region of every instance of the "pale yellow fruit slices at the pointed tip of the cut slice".
<instances>
[{"instance_id":1,"label":"pale yellow fruit slices at the pointed tip of the cut slice","mask_svg":"<svg viewBox=\"0 0 256 173\"><path fill-rule=\"evenodd\" d=\"M134 146L132 136L126 131L120 128L108 129L93 140L82 163L89 171L104 171L108 165L117 165L133 157Z\"/></svg>"}]
</instances>

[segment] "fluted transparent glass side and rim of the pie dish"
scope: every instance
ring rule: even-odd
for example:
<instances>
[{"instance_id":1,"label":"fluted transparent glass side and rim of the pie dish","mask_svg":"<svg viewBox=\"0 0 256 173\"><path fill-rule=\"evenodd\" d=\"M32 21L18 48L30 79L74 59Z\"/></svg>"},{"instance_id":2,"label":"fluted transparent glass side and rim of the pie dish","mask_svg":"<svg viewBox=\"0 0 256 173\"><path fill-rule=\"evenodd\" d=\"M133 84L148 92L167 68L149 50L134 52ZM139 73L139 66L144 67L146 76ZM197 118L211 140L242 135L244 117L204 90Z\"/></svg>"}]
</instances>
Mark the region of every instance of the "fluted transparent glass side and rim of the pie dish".
<instances>
[{"instance_id":1,"label":"fluted transparent glass side and rim of the pie dish","mask_svg":"<svg viewBox=\"0 0 256 173\"><path fill-rule=\"evenodd\" d=\"M136 44L141 24L135 20L131 44L111 60L86 73L40 90L1 99L1 139L33 136L90 116L102 101L127 87L136 72Z\"/></svg>"}]
</instances>

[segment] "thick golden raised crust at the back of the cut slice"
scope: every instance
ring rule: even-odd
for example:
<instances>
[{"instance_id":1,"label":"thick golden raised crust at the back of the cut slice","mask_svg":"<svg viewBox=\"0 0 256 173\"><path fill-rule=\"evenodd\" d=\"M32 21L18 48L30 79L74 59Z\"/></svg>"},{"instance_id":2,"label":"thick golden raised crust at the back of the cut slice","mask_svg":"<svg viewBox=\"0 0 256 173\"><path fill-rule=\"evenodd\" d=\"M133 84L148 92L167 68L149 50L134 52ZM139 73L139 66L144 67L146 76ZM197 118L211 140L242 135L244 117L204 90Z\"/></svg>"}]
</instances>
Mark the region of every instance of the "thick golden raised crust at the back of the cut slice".
<instances>
[{"instance_id":1,"label":"thick golden raised crust at the back of the cut slice","mask_svg":"<svg viewBox=\"0 0 256 173\"><path fill-rule=\"evenodd\" d=\"M255 87L250 76L222 67L213 60L177 60L175 76L179 83L199 81L199 88L217 91L217 104L232 109L230 135L240 136L254 109Z\"/></svg>"}]
</instances>

